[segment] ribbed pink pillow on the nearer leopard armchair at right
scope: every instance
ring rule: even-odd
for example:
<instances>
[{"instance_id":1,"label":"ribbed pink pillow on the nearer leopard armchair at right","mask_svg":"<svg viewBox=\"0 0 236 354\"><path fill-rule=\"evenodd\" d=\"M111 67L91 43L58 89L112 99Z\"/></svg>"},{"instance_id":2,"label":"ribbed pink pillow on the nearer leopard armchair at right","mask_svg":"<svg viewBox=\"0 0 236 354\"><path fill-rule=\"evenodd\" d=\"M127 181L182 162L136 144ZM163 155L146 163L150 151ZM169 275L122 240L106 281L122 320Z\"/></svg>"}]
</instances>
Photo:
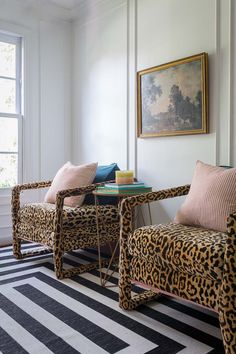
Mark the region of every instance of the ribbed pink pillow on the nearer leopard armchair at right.
<instances>
[{"instance_id":1,"label":"ribbed pink pillow on the nearer leopard armchair at right","mask_svg":"<svg viewBox=\"0 0 236 354\"><path fill-rule=\"evenodd\" d=\"M175 222L225 232L227 216L236 211L236 168L197 161L189 194Z\"/></svg>"}]
</instances>

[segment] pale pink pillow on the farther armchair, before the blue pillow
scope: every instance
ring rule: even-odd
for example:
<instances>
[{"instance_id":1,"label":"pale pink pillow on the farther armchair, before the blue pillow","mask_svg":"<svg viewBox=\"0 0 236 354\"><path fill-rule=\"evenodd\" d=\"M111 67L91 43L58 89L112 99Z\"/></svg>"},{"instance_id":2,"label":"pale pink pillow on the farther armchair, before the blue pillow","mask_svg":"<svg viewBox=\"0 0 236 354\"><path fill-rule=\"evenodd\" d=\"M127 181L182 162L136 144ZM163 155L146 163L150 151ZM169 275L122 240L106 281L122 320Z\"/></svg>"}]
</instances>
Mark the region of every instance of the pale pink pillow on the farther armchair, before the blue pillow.
<instances>
[{"instance_id":1,"label":"pale pink pillow on the farther armchair, before the blue pillow","mask_svg":"<svg viewBox=\"0 0 236 354\"><path fill-rule=\"evenodd\" d=\"M97 170L97 163L74 166L70 162L63 165L45 195L44 202L54 204L58 191L70 188L78 188L91 184L94 180ZM68 197L64 200L64 205L71 207L80 206L84 201L85 195Z\"/></svg>"}]
</instances>

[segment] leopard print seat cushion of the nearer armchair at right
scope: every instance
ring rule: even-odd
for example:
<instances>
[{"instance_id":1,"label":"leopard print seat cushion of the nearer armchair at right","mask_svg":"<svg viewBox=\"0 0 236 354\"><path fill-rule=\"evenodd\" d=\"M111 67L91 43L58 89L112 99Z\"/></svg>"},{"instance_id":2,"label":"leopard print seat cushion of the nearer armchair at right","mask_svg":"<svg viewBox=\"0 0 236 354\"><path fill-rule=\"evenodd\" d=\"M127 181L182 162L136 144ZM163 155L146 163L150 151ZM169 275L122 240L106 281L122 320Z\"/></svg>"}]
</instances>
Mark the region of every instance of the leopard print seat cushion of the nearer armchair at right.
<instances>
[{"instance_id":1,"label":"leopard print seat cushion of the nearer armchair at right","mask_svg":"<svg viewBox=\"0 0 236 354\"><path fill-rule=\"evenodd\" d=\"M129 236L128 249L160 267L221 279L227 234L199 227L169 223L144 226Z\"/></svg>"}]
</instances>

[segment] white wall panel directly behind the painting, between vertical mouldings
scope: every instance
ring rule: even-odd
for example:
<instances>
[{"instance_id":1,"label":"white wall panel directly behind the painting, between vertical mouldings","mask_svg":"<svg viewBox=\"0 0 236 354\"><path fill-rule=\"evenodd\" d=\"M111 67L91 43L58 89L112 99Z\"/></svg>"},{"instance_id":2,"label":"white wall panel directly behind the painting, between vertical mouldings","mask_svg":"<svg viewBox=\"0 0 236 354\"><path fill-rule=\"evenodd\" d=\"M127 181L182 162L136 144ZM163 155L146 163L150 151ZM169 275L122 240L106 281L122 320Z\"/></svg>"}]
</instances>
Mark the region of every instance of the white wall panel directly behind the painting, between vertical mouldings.
<instances>
[{"instance_id":1,"label":"white wall panel directly behind the painting, between vertical mouldings","mask_svg":"<svg viewBox=\"0 0 236 354\"><path fill-rule=\"evenodd\" d=\"M139 178L164 189L189 183L196 160L216 162L215 1L139 0L137 10L137 71L201 52L209 55L209 134L138 139ZM159 203L156 219L172 218L181 202Z\"/></svg>"}]
</instances>

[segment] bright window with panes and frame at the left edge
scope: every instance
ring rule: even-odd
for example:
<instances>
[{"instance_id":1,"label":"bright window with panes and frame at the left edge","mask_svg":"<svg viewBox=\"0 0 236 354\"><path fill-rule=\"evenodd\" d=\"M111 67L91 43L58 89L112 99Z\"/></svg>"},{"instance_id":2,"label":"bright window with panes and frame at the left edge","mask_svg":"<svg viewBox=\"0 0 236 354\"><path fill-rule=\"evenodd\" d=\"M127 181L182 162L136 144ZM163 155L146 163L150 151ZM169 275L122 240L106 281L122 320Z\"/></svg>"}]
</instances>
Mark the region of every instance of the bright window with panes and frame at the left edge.
<instances>
[{"instance_id":1,"label":"bright window with panes and frame at the left edge","mask_svg":"<svg viewBox=\"0 0 236 354\"><path fill-rule=\"evenodd\" d=\"M21 180L21 38L0 33L0 188Z\"/></svg>"}]
</instances>

